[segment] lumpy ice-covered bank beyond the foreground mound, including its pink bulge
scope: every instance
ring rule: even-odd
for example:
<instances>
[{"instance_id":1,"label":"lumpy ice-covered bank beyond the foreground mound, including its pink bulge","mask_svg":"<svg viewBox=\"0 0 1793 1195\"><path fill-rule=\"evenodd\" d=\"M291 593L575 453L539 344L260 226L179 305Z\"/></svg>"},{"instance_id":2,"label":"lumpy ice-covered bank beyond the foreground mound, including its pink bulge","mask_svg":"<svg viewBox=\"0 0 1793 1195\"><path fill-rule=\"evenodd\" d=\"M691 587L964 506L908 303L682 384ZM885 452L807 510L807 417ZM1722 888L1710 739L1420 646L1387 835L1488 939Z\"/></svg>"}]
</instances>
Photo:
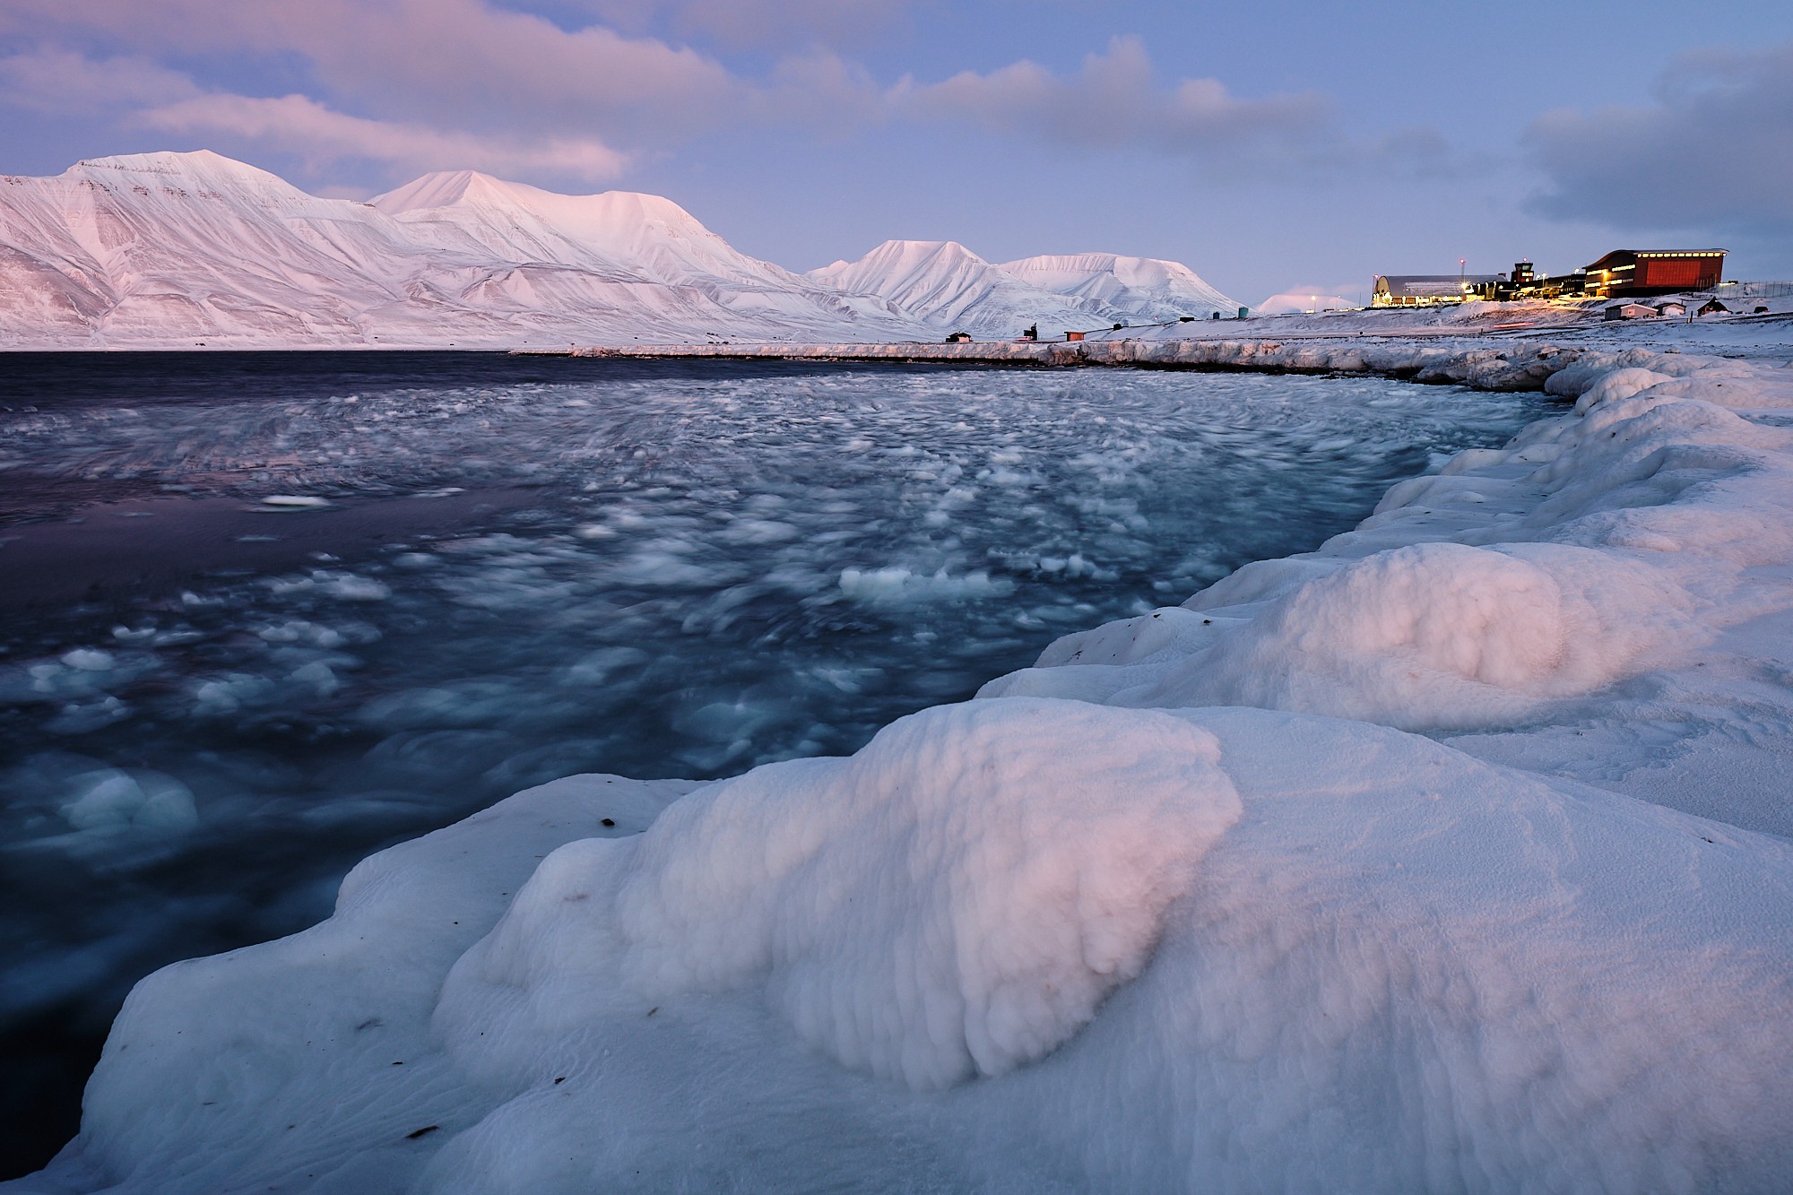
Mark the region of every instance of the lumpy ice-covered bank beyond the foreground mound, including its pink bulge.
<instances>
[{"instance_id":1,"label":"lumpy ice-covered bank beyond the foreground mound, including its pink bulge","mask_svg":"<svg viewBox=\"0 0 1793 1195\"><path fill-rule=\"evenodd\" d=\"M1745 569L1793 562L1793 432L1685 397L1727 380L1743 406L1759 397L1732 362L1694 364L1585 371L1576 414L1397 484L1320 551L1069 635L983 696L1445 730L1685 662L1755 610L1736 598Z\"/></svg>"}]
</instances>

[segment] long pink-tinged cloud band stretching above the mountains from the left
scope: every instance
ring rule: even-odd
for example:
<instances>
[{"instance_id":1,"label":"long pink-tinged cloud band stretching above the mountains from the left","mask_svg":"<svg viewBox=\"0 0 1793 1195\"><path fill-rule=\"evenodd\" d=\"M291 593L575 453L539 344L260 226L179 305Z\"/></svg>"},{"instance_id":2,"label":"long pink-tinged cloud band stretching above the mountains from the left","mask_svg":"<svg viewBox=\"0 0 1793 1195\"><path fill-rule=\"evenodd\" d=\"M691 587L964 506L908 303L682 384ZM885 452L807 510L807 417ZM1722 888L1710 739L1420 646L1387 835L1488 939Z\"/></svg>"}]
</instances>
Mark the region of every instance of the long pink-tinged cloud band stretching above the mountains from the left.
<instances>
[{"instance_id":1,"label":"long pink-tinged cloud band stretching above the mountains from the left","mask_svg":"<svg viewBox=\"0 0 1793 1195\"><path fill-rule=\"evenodd\" d=\"M913 0L893 2L905 16ZM868 29L884 20L870 0L583 4L615 20L635 13L637 27L689 22L714 32L742 22L787 38L809 20L857 20ZM75 56L63 66L47 57L22 63L14 93L74 93L90 109L102 109L93 97L104 95L126 120L151 109L134 117L140 126L430 169L513 161L611 178L626 156L651 158L717 131L796 126L852 135L898 120L972 124L1079 149L1149 149L1221 172L1269 176L1364 165L1434 172L1447 156L1425 129L1357 144L1338 127L1330 100L1311 92L1241 97L1216 79L1160 83L1140 38L1115 38L1070 74L1024 59L940 83L882 86L819 38L746 77L690 47L606 25L563 29L495 0L5 0L0 32L84 36L138 50L113 59L129 65L120 83L95 79L88 90L70 83L93 75ZM287 97L201 95L158 56L228 57L237 72L267 57L282 63L285 81L298 61L308 86Z\"/></svg>"}]
</instances>

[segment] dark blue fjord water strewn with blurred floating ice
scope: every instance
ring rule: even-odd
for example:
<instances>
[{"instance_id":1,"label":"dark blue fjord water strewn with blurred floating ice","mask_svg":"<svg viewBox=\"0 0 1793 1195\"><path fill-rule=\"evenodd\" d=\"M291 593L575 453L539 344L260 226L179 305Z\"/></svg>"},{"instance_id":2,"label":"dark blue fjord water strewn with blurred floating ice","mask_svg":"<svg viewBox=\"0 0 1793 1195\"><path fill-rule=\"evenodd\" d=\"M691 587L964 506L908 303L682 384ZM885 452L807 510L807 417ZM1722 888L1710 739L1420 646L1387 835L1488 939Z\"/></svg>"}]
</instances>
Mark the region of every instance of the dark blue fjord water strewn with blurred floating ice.
<instances>
[{"instance_id":1,"label":"dark blue fjord water strewn with blurred floating ice","mask_svg":"<svg viewBox=\"0 0 1793 1195\"><path fill-rule=\"evenodd\" d=\"M5 364L11 1170L74 1130L136 978L310 924L385 843L574 772L852 752L1544 409L1122 370Z\"/></svg>"}]
</instances>

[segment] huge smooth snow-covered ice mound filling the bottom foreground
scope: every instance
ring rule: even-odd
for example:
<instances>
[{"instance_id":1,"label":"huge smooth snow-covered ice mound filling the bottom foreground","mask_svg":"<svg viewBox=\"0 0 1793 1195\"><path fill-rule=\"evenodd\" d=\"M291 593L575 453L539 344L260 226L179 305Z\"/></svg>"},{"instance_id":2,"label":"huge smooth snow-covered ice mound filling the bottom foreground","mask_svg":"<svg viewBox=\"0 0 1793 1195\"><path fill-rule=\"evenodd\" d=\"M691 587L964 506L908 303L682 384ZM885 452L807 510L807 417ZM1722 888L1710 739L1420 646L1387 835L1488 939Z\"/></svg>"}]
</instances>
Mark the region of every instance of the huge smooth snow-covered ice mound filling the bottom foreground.
<instances>
[{"instance_id":1,"label":"huge smooth snow-covered ice mound filling the bottom foreground","mask_svg":"<svg viewBox=\"0 0 1793 1195\"><path fill-rule=\"evenodd\" d=\"M1359 723L1031 700L653 820L678 791L522 793L368 859L316 929L145 980L59 1177L1768 1190L1793 1164L1784 842Z\"/></svg>"}]
</instances>

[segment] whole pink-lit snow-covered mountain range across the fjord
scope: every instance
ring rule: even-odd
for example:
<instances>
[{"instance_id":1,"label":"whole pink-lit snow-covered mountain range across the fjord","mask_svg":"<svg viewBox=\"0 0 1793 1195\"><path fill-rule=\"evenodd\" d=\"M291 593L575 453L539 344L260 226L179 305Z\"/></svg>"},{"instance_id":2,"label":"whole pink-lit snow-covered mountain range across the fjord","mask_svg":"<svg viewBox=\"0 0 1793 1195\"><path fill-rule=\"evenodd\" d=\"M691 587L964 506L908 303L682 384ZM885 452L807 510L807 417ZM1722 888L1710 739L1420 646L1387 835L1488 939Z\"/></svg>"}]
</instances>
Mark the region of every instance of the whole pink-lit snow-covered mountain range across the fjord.
<instances>
[{"instance_id":1,"label":"whole pink-lit snow-covered mountain range across the fjord","mask_svg":"<svg viewBox=\"0 0 1793 1195\"><path fill-rule=\"evenodd\" d=\"M1176 262L993 266L950 240L891 240L796 275L671 199L559 196L472 170L368 203L206 151L0 176L0 348L1060 336L1234 307Z\"/></svg>"}]
</instances>

